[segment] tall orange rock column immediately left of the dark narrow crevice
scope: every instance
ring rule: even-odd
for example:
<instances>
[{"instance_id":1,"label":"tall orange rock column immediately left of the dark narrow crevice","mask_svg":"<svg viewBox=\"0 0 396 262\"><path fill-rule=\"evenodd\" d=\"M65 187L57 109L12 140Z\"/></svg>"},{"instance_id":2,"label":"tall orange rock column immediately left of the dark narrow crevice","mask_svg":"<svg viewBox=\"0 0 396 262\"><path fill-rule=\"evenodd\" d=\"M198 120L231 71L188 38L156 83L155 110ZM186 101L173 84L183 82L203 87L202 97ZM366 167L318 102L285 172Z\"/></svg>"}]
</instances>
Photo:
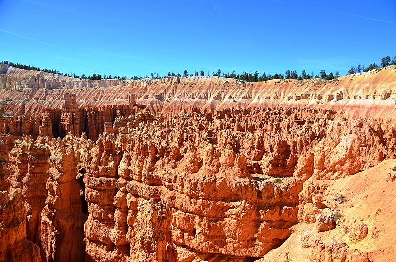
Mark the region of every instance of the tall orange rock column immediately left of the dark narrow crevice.
<instances>
[{"instance_id":1,"label":"tall orange rock column immediately left of the dark narrow crevice","mask_svg":"<svg viewBox=\"0 0 396 262\"><path fill-rule=\"evenodd\" d=\"M42 211L42 256L47 262L82 261L84 216L77 160L72 147L61 143L49 158L47 205Z\"/></svg>"}]
</instances>

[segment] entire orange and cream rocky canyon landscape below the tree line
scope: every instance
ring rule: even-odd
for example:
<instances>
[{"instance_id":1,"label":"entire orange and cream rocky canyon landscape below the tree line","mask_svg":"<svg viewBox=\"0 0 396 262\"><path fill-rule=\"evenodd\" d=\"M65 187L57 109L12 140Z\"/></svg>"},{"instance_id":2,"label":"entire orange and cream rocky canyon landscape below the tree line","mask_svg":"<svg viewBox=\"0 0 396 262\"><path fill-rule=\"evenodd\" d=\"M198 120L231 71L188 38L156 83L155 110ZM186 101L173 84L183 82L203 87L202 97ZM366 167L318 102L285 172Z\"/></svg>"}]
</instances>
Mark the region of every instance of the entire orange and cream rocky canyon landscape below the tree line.
<instances>
[{"instance_id":1,"label":"entire orange and cream rocky canyon landscape below the tree line","mask_svg":"<svg viewBox=\"0 0 396 262\"><path fill-rule=\"evenodd\" d=\"M396 66L330 81L0 73L0 261L396 255Z\"/></svg>"}]
</instances>

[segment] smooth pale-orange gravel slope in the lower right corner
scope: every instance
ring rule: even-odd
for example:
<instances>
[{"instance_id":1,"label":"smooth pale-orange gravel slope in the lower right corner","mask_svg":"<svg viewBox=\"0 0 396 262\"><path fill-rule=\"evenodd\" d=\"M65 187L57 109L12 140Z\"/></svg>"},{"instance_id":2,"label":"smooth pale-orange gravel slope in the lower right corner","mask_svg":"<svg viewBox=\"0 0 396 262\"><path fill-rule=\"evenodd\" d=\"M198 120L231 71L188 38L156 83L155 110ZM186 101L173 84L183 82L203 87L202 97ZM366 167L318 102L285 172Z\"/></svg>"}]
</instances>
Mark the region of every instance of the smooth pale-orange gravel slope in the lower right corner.
<instances>
[{"instance_id":1,"label":"smooth pale-orange gravel slope in the lower right corner","mask_svg":"<svg viewBox=\"0 0 396 262\"><path fill-rule=\"evenodd\" d=\"M293 226L292 235L282 246L268 252L258 261L315 261L315 257L319 256L312 254L310 246L320 241L327 247L332 241L344 242L351 249L367 252L370 261L394 261L396 172L392 168L395 166L395 159L384 160L353 176L329 181L323 196L329 207L343 214L337 228L318 233L314 224L298 223ZM339 195L345 196L346 201L342 204L334 200ZM359 233L359 225L363 223L368 227L368 235L356 240L353 236ZM329 257L327 259L332 261ZM354 261L359 261L359 258Z\"/></svg>"}]
</instances>

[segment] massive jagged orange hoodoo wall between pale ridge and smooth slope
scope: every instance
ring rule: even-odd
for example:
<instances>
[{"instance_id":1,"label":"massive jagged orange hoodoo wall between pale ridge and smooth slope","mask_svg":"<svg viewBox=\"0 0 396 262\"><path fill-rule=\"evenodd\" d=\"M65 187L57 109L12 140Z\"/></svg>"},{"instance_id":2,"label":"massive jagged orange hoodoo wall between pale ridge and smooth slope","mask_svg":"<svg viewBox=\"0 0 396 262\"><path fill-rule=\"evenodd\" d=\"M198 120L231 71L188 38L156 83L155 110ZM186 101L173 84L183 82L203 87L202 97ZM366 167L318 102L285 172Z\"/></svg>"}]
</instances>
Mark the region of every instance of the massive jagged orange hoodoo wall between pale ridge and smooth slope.
<instances>
[{"instance_id":1,"label":"massive jagged orange hoodoo wall between pale ridge and smooth slope","mask_svg":"<svg viewBox=\"0 0 396 262\"><path fill-rule=\"evenodd\" d=\"M14 142L9 169L45 261L259 258L324 213L322 181L395 157L395 121L331 110L137 113L105 128L97 141Z\"/></svg>"}]
</instances>

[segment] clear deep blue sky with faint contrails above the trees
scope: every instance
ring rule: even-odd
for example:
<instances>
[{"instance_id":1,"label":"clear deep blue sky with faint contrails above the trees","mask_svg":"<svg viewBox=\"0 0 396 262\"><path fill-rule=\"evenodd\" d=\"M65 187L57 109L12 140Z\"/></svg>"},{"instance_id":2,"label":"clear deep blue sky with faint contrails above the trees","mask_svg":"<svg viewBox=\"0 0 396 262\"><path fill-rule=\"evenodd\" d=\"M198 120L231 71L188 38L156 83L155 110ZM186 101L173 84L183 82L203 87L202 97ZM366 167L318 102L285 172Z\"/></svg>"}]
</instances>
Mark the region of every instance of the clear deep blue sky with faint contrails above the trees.
<instances>
[{"instance_id":1,"label":"clear deep blue sky with faint contrails above the trees","mask_svg":"<svg viewBox=\"0 0 396 262\"><path fill-rule=\"evenodd\" d=\"M395 0L0 0L0 60L69 74L345 75L395 47Z\"/></svg>"}]
</instances>

